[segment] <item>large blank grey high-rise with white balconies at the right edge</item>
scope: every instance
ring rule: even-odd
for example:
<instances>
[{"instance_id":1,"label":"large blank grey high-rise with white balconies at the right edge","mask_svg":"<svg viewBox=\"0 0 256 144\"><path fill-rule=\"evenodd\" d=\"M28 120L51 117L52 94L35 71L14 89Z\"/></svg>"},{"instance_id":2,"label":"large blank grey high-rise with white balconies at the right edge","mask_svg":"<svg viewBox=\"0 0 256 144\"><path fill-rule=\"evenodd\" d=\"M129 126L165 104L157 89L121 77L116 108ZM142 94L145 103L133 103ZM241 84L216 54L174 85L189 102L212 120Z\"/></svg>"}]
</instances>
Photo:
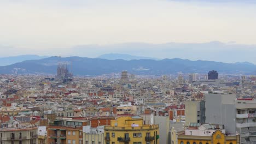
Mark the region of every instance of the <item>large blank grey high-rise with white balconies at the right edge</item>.
<instances>
[{"instance_id":1,"label":"large blank grey high-rise with white balconies at the right edge","mask_svg":"<svg viewBox=\"0 0 256 144\"><path fill-rule=\"evenodd\" d=\"M206 94L206 123L224 124L226 133L240 134L241 143L256 141L256 101L235 94Z\"/></svg>"}]
</instances>

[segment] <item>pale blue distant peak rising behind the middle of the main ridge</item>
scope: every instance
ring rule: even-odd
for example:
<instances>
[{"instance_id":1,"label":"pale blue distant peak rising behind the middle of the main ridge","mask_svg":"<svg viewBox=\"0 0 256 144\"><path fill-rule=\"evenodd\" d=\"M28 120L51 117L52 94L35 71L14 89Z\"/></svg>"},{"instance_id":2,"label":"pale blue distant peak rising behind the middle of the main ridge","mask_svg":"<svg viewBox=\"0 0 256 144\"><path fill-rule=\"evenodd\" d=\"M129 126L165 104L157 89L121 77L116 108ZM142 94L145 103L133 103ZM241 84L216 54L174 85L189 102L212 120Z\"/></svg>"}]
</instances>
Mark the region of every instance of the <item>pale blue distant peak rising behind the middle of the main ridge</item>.
<instances>
[{"instance_id":1,"label":"pale blue distant peak rising behind the middle of the main ridge","mask_svg":"<svg viewBox=\"0 0 256 144\"><path fill-rule=\"evenodd\" d=\"M120 54L120 53L108 53L104 54L101 56L98 56L97 58L103 58L103 59L109 59L109 60L115 60L115 59L123 59L126 61L130 60L138 60L138 59L154 59L154 60L159 60L158 58L153 58L153 57L140 57L140 56L132 56L132 55L127 55L127 54Z\"/></svg>"}]
</instances>

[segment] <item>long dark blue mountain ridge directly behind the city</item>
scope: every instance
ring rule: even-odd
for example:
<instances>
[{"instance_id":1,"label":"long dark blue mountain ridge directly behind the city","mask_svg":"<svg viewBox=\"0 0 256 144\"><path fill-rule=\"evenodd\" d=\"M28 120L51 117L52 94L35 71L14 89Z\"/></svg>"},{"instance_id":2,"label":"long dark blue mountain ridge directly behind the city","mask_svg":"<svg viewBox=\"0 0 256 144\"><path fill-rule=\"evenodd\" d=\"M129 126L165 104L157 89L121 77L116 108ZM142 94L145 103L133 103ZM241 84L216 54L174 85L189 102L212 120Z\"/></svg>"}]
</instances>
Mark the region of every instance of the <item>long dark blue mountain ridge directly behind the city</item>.
<instances>
[{"instance_id":1,"label":"long dark blue mountain ridge directly behind the city","mask_svg":"<svg viewBox=\"0 0 256 144\"><path fill-rule=\"evenodd\" d=\"M256 65L251 63L223 63L190 61L188 59L123 59L108 60L86 57L48 57L28 60L0 67L0 74L56 74L57 63L67 62L74 75L102 75L128 70L131 74L162 75L182 73L208 73L217 70L226 74L256 74Z\"/></svg>"}]
</instances>

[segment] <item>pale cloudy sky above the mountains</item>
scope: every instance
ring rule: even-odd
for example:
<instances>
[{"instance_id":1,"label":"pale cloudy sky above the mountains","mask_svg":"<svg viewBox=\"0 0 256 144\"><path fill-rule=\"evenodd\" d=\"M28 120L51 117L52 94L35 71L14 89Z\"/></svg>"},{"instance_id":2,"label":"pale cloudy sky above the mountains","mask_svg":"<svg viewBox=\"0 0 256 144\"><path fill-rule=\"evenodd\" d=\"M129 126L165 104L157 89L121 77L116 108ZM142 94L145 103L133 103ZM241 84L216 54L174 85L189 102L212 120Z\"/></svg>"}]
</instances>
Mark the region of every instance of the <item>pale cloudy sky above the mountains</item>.
<instances>
[{"instance_id":1,"label":"pale cloudy sky above the mountains","mask_svg":"<svg viewBox=\"0 0 256 144\"><path fill-rule=\"evenodd\" d=\"M255 8L256 2L249 0L1 0L0 57L96 57L103 53L88 45L211 41L243 44L250 47L248 52L256 52ZM75 51L83 45L83 53ZM126 49L110 47L106 52L125 53ZM129 49L129 54L136 55L136 49ZM210 48L200 47L198 51L207 49ZM243 47L239 49L237 52ZM218 51L223 52L221 47ZM161 55L157 47L150 48L147 55L139 55L175 57ZM204 53L195 55L195 59L201 59ZM246 56L237 61L247 61Z\"/></svg>"}]
</instances>

